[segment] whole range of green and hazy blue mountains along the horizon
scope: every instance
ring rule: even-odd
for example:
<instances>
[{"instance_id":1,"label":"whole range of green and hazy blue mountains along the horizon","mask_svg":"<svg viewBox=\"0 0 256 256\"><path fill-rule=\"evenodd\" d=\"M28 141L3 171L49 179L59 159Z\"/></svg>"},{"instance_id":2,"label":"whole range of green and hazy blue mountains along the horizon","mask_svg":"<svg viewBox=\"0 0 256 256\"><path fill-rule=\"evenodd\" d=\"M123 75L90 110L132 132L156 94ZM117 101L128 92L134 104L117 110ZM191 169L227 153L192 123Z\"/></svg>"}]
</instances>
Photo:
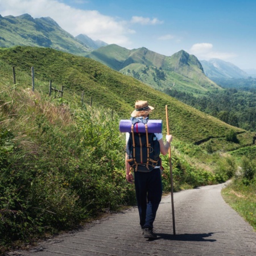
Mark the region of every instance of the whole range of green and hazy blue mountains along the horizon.
<instances>
[{"instance_id":1,"label":"whole range of green and hazy blue mountains along the horizon","mask_svg":"<svg viewBox=\"0 0 256 256\"><path fill-rule=\"evenodd\" d=\"M83 34L74 37L49 17L34 19L29 14L16 17L0 15L0 35L0 47L48 47L90 57L158 90L175 88L205 94L222 89L214 81L248 76L231 63L217 59L199 61L183 50L164 56L144 47L130 50L115 44L108 45Z\"/></svg>"}]
</instances>

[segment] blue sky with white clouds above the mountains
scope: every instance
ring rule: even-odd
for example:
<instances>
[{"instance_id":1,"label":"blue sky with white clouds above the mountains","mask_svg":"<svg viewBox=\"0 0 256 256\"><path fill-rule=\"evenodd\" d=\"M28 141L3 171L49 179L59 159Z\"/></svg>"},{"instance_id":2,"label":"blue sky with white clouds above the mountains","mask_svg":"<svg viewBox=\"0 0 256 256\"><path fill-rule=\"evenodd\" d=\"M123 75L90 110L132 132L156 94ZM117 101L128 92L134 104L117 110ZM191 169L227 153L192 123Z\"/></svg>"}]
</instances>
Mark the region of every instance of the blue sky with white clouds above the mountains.
<instances>
[{"instance_id":1,"label":"blue sky with white clouds above the mountains","mask_svg":"<svg viewBox=\"0 0 256 256\"><path fill-rule=\"evenodd\" d=\"M0 0L2 16L25 13L73 36L256 69L256 0Z\"/></svg>"}]
</instances>

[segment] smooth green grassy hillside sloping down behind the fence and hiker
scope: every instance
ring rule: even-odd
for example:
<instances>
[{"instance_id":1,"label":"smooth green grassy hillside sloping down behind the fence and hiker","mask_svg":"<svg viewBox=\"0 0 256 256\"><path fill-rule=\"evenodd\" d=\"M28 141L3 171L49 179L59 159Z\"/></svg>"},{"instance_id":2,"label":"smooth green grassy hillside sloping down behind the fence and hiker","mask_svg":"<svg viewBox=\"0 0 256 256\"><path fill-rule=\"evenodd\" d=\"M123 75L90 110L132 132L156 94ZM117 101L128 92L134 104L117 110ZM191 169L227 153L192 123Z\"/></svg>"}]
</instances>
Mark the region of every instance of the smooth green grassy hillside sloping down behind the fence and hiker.
<instances>
[{"instance_id":1,"label":"smooth green grassy hillside sloping down behind the fence and hiker","mask_svg":"<svg viewBox=\"0 0 256 256\"><path fill-rule=\"evenodd\" d=\"M92 59L34 47L1 49L0 58L10 65L10 69L15 66L18 71L27 74L33 66L36 79L45 82L51 79L54 84L59 87L64 85L65 90L72 90L72 93L76 89L76 93L81 95L84 90L85 98L93 97L94 104L115 110L121 118L129 118L134 102L144 99L155 106L151 118L163 119L164 122L165 106L168 105L171 133L183 141L195 143L211 137L225 137L229 129L246 134L244 130L201 113ZM19 77L16 79L19 82Z\"/></svg>"}]
</instances>

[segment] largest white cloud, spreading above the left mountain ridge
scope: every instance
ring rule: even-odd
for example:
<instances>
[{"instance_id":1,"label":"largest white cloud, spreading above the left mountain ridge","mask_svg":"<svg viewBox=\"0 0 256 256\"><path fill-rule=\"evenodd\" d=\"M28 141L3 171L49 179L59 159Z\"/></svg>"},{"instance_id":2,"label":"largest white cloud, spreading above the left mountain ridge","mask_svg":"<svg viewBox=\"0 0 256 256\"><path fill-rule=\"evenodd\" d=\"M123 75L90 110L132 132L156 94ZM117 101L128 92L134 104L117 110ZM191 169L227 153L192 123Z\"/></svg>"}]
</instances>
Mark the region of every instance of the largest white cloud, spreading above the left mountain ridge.
<instances>
[{"instance_id":1,"label":"largest white cloud, spreading above the left mountain ridge","mask_svg":"<svg viewBox=\"0 0 256 256\"><path fill-rule=\"evenodd\" d=\"M124 20L102 15L98 11L76 9L57 0L8 0L4 4L2 2L2 16L18 16L24 13L33 18L49 16L73 36L86 34L94 40L129 46L128 35L135 32Z\"/></svg>"}]
</instances>

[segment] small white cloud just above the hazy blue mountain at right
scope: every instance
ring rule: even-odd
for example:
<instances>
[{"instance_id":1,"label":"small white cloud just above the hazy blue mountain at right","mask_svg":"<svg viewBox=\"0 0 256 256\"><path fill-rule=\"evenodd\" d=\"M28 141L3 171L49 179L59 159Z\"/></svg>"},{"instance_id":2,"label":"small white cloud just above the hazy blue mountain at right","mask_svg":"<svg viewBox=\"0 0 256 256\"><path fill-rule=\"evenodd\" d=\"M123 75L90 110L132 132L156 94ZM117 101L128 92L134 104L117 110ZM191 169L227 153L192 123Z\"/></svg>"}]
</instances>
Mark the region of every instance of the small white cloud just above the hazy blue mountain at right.
<instances>
[{"instance_id":1,"label":"small white cloud just above the hazy blue mountain at right","mask_svg":"<svg viewBox=\"0 0 256 256\"><path fill-rule=\"evenodd\" d=\"M200 60L209 60L209 59L221 59L228 60L237 55L232 52L216 52L213 51L213 44L210 43L197 43L188 50L190 54L193 54Z\"/></svg>"}]
</instances>

